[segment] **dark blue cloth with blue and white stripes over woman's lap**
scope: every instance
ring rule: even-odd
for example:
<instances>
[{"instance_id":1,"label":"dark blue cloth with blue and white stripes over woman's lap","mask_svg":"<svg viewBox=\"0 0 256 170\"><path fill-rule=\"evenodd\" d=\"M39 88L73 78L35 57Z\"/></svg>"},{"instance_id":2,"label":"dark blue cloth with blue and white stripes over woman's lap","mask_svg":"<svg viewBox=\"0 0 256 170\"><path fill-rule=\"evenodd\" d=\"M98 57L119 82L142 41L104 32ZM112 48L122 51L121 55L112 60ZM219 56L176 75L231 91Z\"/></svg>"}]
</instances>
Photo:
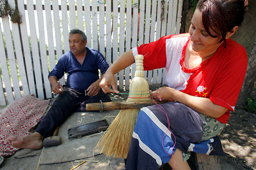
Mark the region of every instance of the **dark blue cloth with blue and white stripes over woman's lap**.
<instances>
[{"instance_id":1,"label":"dark blue cloth with blue and white stripes over woman's lap","mask_svg":"<svg viewBox=\"0 0 256 170\"><path fill-rule=\"evenodd\" d=\"M168 163L177 148L185 153L224 154L218 137L201 142L203 124L196 110L179 102L160 106L140 110L127 155L126 170L159 169Z\"/></svg>"}]
</instances>

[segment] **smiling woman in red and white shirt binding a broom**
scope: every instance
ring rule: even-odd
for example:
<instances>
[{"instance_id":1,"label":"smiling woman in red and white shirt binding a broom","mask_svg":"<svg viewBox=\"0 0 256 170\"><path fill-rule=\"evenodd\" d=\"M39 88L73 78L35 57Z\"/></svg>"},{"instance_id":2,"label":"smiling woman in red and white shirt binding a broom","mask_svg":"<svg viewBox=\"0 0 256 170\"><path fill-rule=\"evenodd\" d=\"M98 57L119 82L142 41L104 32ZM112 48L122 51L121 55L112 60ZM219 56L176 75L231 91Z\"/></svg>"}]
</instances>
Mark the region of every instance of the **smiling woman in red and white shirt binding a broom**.
<instances>
[{"instance_id":1,"label":"smiling woman in red and white shirt binding a broom","mask_svg":"<svg viewBox=\"0 0 256 170\"><path fill-rule=\"evenodd\" d=\"M235 108L246 74L246 50L230 39L243 22L245 4L242 0L201 0L189 33L133 48L108 68L100 86L105 93L118 94L115 73L134 63L136 55L144 55L144 70L166 68L169 87L151 96L176 101L161 104L165 113L157 106L141 109L126 170L159 169L165 163L174 169L190 169L189 151L201 152L195 149L201 141L214 143ZM205 154L210 154L212 145L207 146L211 147Z\"/></svg>"}]
</instances>

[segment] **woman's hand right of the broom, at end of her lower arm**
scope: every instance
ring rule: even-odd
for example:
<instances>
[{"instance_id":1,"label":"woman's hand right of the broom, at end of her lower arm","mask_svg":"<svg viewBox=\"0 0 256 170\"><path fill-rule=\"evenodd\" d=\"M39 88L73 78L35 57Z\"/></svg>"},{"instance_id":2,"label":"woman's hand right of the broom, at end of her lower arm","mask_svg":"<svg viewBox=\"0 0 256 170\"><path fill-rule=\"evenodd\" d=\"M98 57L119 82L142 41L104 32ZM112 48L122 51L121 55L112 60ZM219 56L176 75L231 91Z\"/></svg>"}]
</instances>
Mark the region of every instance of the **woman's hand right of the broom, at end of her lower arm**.
<instances>
[{"instance_id":1,"label":"woman's hand right of the broom, at end of her lower arm","mask_svg":"<svg viewBox=\"0 0 256 170\"><path fill-rule=\"evenodd\" d=\"M160 87L159 89L150 92L151 97L158 101L167 101L171 100L171 91L173 89L171 87Z\"/></svg>"}]
</instances>

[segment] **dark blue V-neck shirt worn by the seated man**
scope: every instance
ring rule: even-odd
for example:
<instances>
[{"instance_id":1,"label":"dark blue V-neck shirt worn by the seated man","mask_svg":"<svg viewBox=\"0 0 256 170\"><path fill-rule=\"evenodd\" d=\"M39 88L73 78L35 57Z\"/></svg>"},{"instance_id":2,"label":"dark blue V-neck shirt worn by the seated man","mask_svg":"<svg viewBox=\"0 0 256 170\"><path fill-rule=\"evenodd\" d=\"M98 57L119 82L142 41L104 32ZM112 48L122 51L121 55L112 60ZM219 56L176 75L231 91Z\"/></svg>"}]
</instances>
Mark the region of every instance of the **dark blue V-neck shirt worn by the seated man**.
<instances>
[{"instance_id":1,"label":"dark blue V-neck shirt worn by the seated man","mask_svg":"<svg viewBox=\"0 0 256 170\"><path fill-rule=\"evenodd\" d=\"M101 73L105 73L108 69L108 64L104 56L97 50L87 47L87 53L84 63L81 65L76 57L69 50L66 52L54 69L49 73L49 76L63 77L64 73L68 73L67 86L76 90L87 90L87 88L99 79L98 69Z\"/></svg>"}]
</instances>

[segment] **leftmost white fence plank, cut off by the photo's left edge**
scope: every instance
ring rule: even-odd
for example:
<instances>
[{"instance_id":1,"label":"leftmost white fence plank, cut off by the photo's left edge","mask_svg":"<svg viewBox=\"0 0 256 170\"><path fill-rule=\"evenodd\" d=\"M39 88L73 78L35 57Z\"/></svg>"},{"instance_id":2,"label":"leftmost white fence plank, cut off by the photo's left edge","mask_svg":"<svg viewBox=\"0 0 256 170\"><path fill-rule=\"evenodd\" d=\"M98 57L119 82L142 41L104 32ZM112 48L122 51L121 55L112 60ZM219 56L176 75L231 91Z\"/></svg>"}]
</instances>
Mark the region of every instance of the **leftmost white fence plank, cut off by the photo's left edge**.
<instances>
[{"instance_id":1,"label":"leftmost white fence plank, cut off by the photo's left edge","mask_svg":"<svg viewBox=\"0 0 256 170\"><path fill-rule=\"evenodd\" d=\"M7 18L2 18L2 23L4 22L3 20L7 19ZM8 19L7 19L8 20ZM9 21L8 21L9 22ZM4 23L3 23L4 24ZM0 27L1 30L1 27ZM0 36L0 50L2 53L2 55L0 55L0 64L1 64L1 70L2 70L2 77L3 77L3 81L4 81L4 86L5 86L5 91L7 94L7 102L5 102L5 100L1 100L1 105L5 105L5 104L9 104L12 103L13 99L13 95L12 95L12 86L10 83L10 76L9 76L9 70L8 70L8 66L7 66L7 60L6 60L6 55L5 55L5 49L4 49L4 39L2 37L2 30L1 30L1 36ZM1 96L3 96L3 89L1 88ZM5 99L5 97L3 97L2 99Z\"/></svg>"}]
</instances>

